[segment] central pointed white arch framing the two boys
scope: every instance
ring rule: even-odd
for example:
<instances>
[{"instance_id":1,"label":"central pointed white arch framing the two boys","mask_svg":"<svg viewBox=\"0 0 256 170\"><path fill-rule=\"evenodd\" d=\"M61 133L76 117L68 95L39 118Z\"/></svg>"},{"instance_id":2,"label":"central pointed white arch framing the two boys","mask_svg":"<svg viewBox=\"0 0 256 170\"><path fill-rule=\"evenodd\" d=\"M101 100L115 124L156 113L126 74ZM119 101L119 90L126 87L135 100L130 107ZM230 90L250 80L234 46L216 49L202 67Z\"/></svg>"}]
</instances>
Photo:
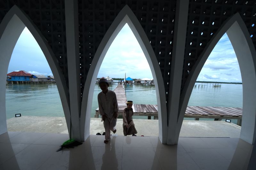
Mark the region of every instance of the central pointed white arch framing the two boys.
<instances>
[{"instance_id":1,"label":"central pointed white arch framing the two boys","mask_svg":"<svg viewBox=\"0 0 256 170\"><path fill-rule=\"evenodd\" d=\"M135 35L137 41L143 53L146 56L150 69L152 70L152 75L156 85L156 97L158 104L158 117L159 117L159 138L162 143L166 143L167 138L167 112L166 112L166 99L164 92L164 80L156 59L156 55L153 51L152 46L148 41L148 37L144 32L140 22L129 8L125 5L124 8L116 16L115 20L108 28L107 33L103 37L100 45L93 57L90 70L87 74L86 82L84 85L83 100L81 107L81 118L80 125L81 129L84 129L84 134L81 134L81 138L87 138L89 136L90 129L90 117L91 117L91 107L92 107L92 96L95 86L95 80L97 74L100 70L100 65L110 47L111 43L116 38L116 35L120 32L125 24L131 28L132 33ZM85 114L86 113L86 114ZM83 130L81 130L82 132Z\"/></svg>"}]
</instances>

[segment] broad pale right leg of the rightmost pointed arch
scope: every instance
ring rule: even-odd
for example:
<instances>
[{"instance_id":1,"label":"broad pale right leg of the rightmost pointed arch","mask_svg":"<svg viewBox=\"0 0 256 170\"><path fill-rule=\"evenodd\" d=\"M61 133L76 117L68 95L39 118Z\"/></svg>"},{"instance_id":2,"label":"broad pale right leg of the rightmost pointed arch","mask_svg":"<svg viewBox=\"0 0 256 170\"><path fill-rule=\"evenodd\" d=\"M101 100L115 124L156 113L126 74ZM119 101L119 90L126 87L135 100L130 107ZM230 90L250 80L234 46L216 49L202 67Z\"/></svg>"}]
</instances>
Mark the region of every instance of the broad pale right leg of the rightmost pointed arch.
<instances>
[{"instance_id":1,"label":"broad pale right leg of the rightmost pointed arch","mask_svg":"<svg viewBox=\"0 0 256 170\"><path fill-rule=\"evenodd\" d=\"M256 128L256 52L250 34L241 18L227 31L239 63L243 82L243 119L240 138L255 142ZM241 24L240 24L241 23Z\"/></svg>"}]
</instances>

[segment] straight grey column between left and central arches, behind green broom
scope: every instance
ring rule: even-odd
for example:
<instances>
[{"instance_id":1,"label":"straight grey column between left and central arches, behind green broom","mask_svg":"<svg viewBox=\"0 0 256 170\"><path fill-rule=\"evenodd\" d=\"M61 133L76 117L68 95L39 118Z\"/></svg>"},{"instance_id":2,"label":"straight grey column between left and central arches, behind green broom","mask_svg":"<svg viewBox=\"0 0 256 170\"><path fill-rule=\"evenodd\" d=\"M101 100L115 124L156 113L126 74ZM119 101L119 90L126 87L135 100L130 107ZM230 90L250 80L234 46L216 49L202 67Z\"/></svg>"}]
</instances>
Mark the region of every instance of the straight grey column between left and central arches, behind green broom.
<instances>
[{"instance_id":1,"label":"straight grey column between left and central arches, behind green broom","mask_svg":"<svg viewBox=\"0 0 256 170\"><path fill-rule=\"evenodd\" d=\"M78 33L77 0L65 0L66 39L68 60L69 101L72 123L72 138L81 141L80 137L80 57ZM68 127L70 128L70 127Z\"/></svg>"}]
</instances>

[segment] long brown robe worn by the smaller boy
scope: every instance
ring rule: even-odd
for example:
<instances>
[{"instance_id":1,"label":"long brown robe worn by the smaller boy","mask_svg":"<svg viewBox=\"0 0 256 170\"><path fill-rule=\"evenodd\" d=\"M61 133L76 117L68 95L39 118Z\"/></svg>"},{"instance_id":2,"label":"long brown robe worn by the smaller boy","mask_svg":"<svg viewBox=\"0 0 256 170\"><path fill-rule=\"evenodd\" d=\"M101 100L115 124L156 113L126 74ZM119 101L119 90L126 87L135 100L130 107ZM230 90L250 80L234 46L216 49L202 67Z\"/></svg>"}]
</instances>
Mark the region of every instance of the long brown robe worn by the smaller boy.
<instances>
[{"instance_id":1,"label":"long brown robe worn by the smaller boy","mask_svg":"<svg viewBox=\"0 0 256 170\"><path fill-rule=\"evenodd\" d=\"M136 134L137 130L135 129L134 123L132 121L133 110L132 108L128 109L127 107L123 111L123 128L124 136ZM128 127L126 127L128 125Z\"/></svg>"}]
</instances>

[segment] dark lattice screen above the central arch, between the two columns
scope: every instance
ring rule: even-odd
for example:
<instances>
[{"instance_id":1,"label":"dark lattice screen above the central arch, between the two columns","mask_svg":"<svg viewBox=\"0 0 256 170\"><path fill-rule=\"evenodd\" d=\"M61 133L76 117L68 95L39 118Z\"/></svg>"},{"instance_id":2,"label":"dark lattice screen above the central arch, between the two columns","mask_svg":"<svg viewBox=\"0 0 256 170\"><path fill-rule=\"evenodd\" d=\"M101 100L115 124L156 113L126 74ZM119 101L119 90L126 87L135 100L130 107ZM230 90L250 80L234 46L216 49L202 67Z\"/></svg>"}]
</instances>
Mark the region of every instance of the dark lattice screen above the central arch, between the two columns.
<instances>
[{"instance_id":1,"label":"dark lattice screen above the central arch, between the two columns","mask_svg":"<svg viewBox=\"0 0 256 170\"><path fill-rule=\"evenodd\" d=\"M119 11L128 5L138 18L155 51L169 91L176 1L79 0L79 42L82 92L93 56ZM111 66L110 66L111 67ZM168 100L168 95L166 94Z\"/></svg>"}]
</instances>

